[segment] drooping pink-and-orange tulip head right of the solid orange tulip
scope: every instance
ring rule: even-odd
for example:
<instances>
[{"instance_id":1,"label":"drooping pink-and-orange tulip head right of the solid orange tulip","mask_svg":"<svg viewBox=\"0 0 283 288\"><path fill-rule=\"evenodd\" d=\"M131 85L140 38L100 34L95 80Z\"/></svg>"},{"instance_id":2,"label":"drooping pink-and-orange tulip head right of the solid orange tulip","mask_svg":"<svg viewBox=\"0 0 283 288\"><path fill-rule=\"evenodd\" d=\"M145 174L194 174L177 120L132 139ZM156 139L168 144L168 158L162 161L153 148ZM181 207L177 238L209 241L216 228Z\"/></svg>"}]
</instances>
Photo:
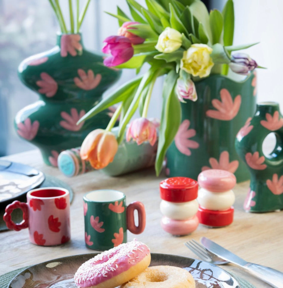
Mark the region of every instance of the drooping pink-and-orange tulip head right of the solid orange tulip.
<instances>
[{"instance_id":1,"label":"drooping pink-and-orange tulip head right of the solid orange tulip","mask_svg":"<svg viewBox=\"0 0 283 288\"><path fill-rule=\"evenodd\" d=\"M153 146L157 139L157 123L154 121L149 121L144 117L133 120L127 130L126 140L129 142L131 138L138 145L149 141L150 145Z\"/></svg>"}]
</instances>

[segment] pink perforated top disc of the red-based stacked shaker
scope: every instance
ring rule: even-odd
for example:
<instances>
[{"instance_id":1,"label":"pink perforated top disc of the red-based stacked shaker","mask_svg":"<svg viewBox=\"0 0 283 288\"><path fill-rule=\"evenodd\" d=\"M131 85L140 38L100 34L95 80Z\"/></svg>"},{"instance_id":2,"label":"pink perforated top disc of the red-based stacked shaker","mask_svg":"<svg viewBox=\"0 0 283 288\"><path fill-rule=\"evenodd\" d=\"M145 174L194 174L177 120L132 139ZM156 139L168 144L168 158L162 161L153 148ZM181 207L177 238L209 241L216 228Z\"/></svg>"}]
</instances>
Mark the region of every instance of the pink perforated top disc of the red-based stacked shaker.
<instances>
[{"instance_id":1,"label":"pink perforated top disc of the red-based stacked shaker","mask_svg":"<svg viewBox=\"0 0 283 288\"><path fill-rule=\"evenodd\" d=\"M233 173L220 169L202 171L198 176L199 186L211 192L225 192L236 185Z\"/></svg>"}]
</instances>

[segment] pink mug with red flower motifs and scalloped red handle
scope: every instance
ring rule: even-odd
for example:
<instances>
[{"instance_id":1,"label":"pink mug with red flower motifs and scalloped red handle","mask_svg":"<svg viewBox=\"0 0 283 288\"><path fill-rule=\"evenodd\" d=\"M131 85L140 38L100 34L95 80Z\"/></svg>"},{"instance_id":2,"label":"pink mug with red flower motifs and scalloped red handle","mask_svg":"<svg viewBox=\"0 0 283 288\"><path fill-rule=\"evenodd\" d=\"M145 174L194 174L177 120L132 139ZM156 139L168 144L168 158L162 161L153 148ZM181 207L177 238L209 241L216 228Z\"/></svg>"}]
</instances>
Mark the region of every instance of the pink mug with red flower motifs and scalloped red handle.
<instances>
[{"instance_id":1,"label":"pink mug with red flower motifs and scalloped red handle","mask_svg":"<svg viewBox=\"0 0 283 288\"><path fill-rule=\"evenodd\" d=\"M21 209L23 220L14 223L11 213ZM27 192L27 203L14 201L7 205L4 221L9 229L29 228L30 241L41 246L63 244L70 240L70 194L67 189L45 187Z\"/></svg>"}]
</instances>

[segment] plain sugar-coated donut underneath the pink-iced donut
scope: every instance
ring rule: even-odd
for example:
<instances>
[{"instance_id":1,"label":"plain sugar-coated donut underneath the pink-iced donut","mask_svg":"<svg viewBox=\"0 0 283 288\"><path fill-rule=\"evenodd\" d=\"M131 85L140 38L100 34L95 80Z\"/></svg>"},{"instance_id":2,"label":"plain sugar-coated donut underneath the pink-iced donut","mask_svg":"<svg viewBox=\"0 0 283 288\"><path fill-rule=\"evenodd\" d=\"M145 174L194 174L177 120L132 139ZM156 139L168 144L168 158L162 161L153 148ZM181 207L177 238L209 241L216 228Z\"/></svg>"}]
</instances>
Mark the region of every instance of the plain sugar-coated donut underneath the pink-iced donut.
<instances>
[{"instance_id":1,"label":"plain sugar-coated donut underneath the pink-iced donut","mask_svg":"<svg viewBox=\"0 0 283 288\"><path fill-rule=\"evenodd\" d=\"M119 288L195 288L189 271L174 266L152 266Z\"/></svg>"}]
</instances>

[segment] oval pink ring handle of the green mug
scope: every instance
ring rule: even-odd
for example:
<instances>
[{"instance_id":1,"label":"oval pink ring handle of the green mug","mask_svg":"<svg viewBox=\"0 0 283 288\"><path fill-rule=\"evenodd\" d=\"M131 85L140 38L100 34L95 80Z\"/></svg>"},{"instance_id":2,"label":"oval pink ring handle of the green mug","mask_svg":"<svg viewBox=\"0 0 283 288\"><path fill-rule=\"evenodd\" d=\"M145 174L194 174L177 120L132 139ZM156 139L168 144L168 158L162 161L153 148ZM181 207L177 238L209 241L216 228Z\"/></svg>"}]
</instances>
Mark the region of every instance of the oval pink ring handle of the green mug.
<instances>
[{"instance_id":1,"label":"oval pink ring handle of the green mug","mask_svg":"<svg viewBox=\"0 0 283 288\"><path fill-rule=\"evenodd\" d=\"M135 225L134 211L138 211L138 226ZM142 202L134 201L127 206L127 228L133 234L140 234L144 231L145 228L145 209Z\"/></svg>"}]
</instances>

